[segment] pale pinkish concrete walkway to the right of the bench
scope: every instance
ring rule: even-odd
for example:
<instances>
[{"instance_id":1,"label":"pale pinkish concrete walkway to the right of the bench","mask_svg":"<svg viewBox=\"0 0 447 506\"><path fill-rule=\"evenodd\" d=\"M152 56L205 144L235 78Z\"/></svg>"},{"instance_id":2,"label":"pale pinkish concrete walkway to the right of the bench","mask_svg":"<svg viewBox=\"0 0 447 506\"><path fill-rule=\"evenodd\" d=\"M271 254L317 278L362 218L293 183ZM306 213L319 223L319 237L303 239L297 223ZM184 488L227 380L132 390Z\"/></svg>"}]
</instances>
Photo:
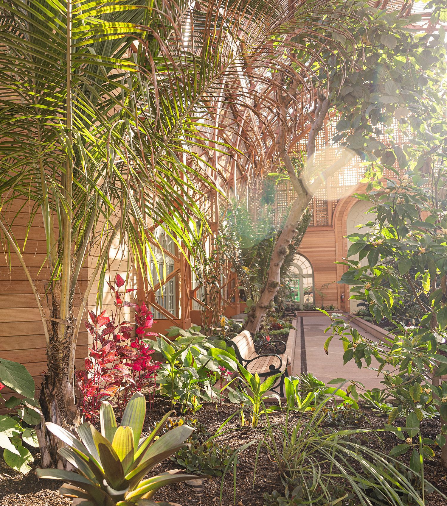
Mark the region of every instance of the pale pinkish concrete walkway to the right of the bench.
<instances>
[{"instance_id":1,"label":"pale pinkish concrete walkway to the right of the bench","mask_svg":"<svg viewBox=\"0 0 447 506\"><path fill-rule=\"evenodd\" d=\"M301 318L303 318L303 327L301 327ZM329 355L326 355L323 346L329 334L325 334L324 330L329 326L329 322L329 318L321 313L316 313L311 316L298 316L292 374L300 375L304 372L307 365L307 371L312 372L324 383L329 382L331 379L342 377L359 381L368 389L382 388L380 384L382 374L378 377L376 371L371 371L366 368L359 369L353 360L343 365L343 345L338 340L337 336L332 339L329 346ZM354 322L352 323L352 326L356 328L361 335L377 341L377 339L366 330L356 326ZM303 330L305 354L301 346ZM306 360L303 360L304 358ZM372 359L371 366L378 366L374 358Z\"/></svg>"}]
</instances>

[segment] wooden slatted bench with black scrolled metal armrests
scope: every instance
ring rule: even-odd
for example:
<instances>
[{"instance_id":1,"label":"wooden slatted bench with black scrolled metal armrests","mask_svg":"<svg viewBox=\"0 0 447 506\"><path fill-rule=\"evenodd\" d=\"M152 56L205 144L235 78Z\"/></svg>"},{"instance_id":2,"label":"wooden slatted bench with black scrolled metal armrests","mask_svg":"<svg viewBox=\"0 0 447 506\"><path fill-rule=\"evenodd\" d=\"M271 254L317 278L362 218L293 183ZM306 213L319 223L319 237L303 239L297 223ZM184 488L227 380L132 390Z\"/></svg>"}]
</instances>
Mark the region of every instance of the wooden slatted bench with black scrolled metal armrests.
<instances>
[{"instance_id":1,"label":"wooden slatted bench with black scrolled metal armrests","mask_svg":"<svg viewBox=\"0 0 447 506\"><path fill-rule=\"evenodd\" d=\"M278 393L284 397L284 377L288 376L289 357L285 354L286 344L283 341L275 340L255 345L250 332L242 330L228 341L227 345L234 348L240 364L252 374L257 372L261 379L281 373L277 384L271 390L276 391L279 388ZM275 347L275 353L262 353L262 349L270 345Z\"/></svg>"}]
</instances>

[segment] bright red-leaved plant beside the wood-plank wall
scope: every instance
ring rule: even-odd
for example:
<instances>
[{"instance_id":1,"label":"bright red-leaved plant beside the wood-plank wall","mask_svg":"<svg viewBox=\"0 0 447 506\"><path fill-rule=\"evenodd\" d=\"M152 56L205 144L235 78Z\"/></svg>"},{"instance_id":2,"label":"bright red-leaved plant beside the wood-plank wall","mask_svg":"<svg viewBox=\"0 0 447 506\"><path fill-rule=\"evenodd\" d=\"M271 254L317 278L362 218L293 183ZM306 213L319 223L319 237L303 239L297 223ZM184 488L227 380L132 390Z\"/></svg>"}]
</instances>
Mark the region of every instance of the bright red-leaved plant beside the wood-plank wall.
<instances>
[{"instance_id":1,"label":"bright red-leaved plant beside the wood-plank wall","mask_svg":"<svg viewBox=\"0 0 447 506\"><path fill-rule=\"evenodd\" d=\"M101 402L108 400L122 414L132 395L148 387L150 405L154 393L159 362L152 361L154 350L143 342L151 335L154 316L145 304L141 306L123 301L126 293L133 290L120 288L125 280L118 274L115 285L109 286L114 293L116 311L105 316L105 311L96 315L89 311L91 323L85 322L87 331L93 338L89 356L85 359L85 371L77 371L77 385L82 393L81 409L86 419L95 420L99 416ZM135 323L122 317L124 306L135 308ZM135 329L136 336L132 337Z\"/></svg>"}]
</instances>

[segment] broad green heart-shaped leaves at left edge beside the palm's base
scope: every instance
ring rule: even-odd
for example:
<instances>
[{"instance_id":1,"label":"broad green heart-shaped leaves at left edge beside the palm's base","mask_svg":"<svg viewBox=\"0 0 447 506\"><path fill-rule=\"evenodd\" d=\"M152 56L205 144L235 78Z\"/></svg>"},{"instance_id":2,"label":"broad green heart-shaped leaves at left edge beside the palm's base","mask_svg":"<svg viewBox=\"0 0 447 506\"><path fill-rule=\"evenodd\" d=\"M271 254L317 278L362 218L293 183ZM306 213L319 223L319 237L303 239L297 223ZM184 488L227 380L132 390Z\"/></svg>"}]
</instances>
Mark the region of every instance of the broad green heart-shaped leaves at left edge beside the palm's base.
<instances>
[{"instance_id":1,"label":"broad green heart-shaped leaves at left edge beside the palm's base","mask_svg":"<svg viewBox=\"0 0 447 506\"><path fill-rule=\"evenodd\" d=\"M26 445L39 446L32 426L41 421L39 402L34 399L34 380L24 365L0 358L0 391L5 387L25 398L13 396L5 401L10 411L0 415L0 448L9 467L27 473L34 458ZM0 400L3 400L1 394Z\"/></svg>"}]
</instances>

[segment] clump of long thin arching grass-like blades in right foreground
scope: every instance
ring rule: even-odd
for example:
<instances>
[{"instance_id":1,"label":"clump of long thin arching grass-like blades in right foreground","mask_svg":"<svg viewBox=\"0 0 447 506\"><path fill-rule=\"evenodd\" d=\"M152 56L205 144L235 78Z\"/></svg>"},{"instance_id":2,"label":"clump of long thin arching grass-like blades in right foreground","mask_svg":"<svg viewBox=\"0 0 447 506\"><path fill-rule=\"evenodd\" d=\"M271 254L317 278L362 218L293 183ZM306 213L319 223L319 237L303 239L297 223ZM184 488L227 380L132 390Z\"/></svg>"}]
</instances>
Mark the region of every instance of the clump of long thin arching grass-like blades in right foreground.
<instances>
[{"instance_id":1,"label":"clump of long thin arching grass-like blades in right foreground","mask_svg":"<svg viewBox=\"0 0 447 506\"><path fill-rule=\"evenodd\" d=\"M318 404L310 416L302 414L297 422L289 419L289 410L285 423L279 425L272 424L267 414L263 444L276 461L286 489L300 490L298 503L423 506L425 493L434 490L423 474L418 476L371 448L368 443L378 435L369 429L326 427L327 402ZM340 485L342 496L334 498Z\"/></svg>"}]
</instances>

